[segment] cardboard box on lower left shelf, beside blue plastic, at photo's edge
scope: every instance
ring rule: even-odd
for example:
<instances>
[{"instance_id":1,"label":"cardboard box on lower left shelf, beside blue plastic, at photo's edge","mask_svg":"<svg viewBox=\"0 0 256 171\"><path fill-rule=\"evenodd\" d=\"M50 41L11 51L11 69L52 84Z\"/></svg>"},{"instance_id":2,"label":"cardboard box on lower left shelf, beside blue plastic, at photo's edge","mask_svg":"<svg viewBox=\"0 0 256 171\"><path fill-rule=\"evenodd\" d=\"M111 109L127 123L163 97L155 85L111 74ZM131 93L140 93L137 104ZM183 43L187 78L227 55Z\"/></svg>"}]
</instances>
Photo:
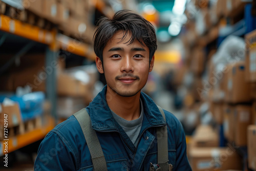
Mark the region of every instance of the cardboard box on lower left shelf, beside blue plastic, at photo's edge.
<instances>
[{"instance_id":1,"label":"cardboard box on lower left shelf, beside blue plastic, at photo's edge","mask_svg":"<svg viewBox=\"0 0 256 171\"><path fill-rule=\"evenodd\" d=\"M5 117L8 115L8 125L6 128L11 128L22 123L22 114L20 113L18 103L13 105L1 104L2 111L0 111L0 125L4 127ZM5 115L6 114L6 115Z\"/></svg>"}]
</instances>

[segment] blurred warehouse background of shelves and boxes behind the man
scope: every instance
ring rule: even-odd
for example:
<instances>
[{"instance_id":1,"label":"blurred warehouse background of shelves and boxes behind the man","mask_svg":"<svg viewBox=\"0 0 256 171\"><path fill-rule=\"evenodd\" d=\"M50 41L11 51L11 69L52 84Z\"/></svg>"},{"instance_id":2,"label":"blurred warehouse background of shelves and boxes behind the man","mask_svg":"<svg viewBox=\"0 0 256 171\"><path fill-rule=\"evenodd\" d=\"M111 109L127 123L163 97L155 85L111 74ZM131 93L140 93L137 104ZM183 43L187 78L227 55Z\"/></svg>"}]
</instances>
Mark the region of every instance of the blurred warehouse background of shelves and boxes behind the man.
<instances>
[{"instance_id":1,"label":"blurred warehouse background of shelves and boxes behind the man","mask_svg":"<svg viewBox=\"0 0 256 171\"><path fill-rule=\"evenodd\" d=\"M9 170L33 170L40 141L102 89L92 38L98 19L121 9L155 26L143 91L181 121L193 170L256 170L255 0L2 0Z\"/></svg>"}]
</instances>

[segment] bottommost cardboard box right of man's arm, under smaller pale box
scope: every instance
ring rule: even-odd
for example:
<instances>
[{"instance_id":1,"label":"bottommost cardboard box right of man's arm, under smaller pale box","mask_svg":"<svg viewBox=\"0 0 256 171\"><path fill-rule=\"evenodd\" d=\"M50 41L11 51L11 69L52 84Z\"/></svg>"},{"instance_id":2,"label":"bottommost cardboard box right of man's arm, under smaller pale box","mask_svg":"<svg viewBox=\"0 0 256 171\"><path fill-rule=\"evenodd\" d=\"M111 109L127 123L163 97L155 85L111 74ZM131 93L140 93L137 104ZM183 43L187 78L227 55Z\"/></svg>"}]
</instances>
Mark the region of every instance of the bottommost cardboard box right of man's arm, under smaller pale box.
<instances>
[{"instance_id":1,"label":"bottommost cardboard box right of man's arm, under smaller pale box","mask_svg":"<svg viewBox=\"0 0 256 171\"><path fill-rule=\"evenodd\" d=\"M242 158L229 147L194 147L189 154L193 171L242 169Z\"/></svg>"}]
</instances>

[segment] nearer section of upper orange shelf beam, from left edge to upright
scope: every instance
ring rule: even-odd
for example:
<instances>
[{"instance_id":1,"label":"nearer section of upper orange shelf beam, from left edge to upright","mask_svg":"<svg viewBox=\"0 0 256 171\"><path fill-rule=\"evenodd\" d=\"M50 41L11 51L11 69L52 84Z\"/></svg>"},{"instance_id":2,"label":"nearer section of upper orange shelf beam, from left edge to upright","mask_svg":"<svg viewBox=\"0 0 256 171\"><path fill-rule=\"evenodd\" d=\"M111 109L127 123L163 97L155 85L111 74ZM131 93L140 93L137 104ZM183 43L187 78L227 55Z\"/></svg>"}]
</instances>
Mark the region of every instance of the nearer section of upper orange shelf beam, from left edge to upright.
<instances>
[{"instance_id":1,"label":"nearer section of upper orange shelf beam, from left edge to upright","mask_svg":"<svg viewBox=\"0 0 256 171\"><path fill-rule=\"evenodd\" d=\"M47 45L52 44L55 36L53 31L41 29L2 14L0 15L0 30Z\"/></svg>"}]
</instances>

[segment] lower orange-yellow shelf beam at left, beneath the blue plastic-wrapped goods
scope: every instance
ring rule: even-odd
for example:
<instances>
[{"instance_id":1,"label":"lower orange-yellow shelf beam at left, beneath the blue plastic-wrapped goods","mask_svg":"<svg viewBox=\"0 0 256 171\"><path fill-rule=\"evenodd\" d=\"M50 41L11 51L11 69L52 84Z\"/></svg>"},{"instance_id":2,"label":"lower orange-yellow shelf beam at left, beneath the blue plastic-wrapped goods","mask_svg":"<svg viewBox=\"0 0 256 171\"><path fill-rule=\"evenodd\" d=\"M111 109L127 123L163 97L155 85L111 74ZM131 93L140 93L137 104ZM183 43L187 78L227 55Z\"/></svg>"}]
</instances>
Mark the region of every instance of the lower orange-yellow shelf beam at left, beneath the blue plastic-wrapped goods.
<instances>
[{"instance_id":1,"label":"lower orange-yellow shelf beam at left, beneath the blue plastic-wrapped goods","mask_svg":"<svg viewBox=\"0 0 256 171\"><path fill-rule=\"evenodd\" d=\"M51 117L47 118L47 124L42 125L30 132L25 134L17 135L15 137L10 137L8 140L8 153L11 153L19 148L22 148L26 145L29 145L33 142L36 142L40 139L43 139L55 126L54 119ZM1 145L3 147L2 152L0 152L0 156L4 155L5 151L5 141L1 141Z\"/></svg>"}]
</instances>

